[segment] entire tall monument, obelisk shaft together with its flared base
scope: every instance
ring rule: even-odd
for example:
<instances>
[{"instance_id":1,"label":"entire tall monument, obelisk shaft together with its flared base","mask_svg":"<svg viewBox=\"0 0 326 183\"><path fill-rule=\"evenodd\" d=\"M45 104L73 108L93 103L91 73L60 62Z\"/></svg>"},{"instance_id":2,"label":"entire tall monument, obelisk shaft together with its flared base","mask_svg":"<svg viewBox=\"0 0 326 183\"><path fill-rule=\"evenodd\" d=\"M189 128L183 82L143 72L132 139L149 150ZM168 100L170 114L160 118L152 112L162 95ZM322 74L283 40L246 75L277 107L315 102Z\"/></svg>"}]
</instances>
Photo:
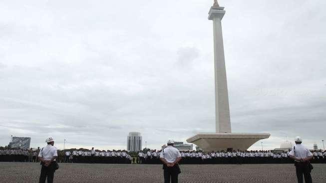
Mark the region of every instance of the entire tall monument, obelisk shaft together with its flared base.
<instances>
[{"instance_id":1,"label":"entire tall monument, obelisk shaft together with its flared base","mask_svg":"<svg viewBox=\"0 0 326 183\"><path fill-rule=\"evenodd\" d=\"M228 84L226 78L222 23L225 14L217 0L209 10L209 20L213 20L214 35L214 71L215 71L215 115L216 132L199 133L187 139L204 151L240 149L247 150L256 141L268 138L269 133L232 133Z\"/></svg>"}]
</instances>

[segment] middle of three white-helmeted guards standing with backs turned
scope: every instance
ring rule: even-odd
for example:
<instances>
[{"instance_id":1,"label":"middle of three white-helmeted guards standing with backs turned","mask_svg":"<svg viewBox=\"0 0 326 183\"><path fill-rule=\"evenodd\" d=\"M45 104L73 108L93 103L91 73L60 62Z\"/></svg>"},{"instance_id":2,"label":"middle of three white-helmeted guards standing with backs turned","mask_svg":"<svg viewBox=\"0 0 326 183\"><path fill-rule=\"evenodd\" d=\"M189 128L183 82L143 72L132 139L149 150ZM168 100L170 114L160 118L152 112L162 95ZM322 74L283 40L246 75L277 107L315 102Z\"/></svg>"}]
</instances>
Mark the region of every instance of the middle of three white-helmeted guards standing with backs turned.
<instances>
[{"instance_id":1,"label":"middle of three white-helmeted guards standing with backs turned","mask_svg":"<svg viewBox=\"0 0 326 183\"><path fill-rule=\"evenodd\" d=\"M181 160L180 151L173 147L173 140L167 142L167 147L162 150L160 159L163 162L164 183L177 183L178 174L181 172L178 162Z\"/></svg>"}]
</instances>

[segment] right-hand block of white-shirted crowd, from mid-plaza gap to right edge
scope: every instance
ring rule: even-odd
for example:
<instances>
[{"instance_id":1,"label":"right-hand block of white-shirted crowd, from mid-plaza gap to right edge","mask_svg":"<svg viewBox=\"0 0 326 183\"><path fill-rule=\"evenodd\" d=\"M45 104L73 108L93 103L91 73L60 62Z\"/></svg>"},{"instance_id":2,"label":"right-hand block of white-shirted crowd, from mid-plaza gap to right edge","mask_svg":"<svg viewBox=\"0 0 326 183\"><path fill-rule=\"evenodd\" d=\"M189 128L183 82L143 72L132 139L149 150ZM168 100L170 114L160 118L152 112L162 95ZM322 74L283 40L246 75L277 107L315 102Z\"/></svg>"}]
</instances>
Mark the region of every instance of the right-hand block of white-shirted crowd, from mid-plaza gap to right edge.
<instances>
[{"instance_id":1,"label":"right-hand block of white-shirted crowd, from mid-plaza gap to right edge","mask_svg":"<svg viewBox=\"0 0 326 183\"><path fill-rule=\"evenodd\" d=\"M158 164L162 150L148 150L138 153L138 163ZM312 163L326 163L326 151L315 150ZM262 163L293 163L289 151L274 153L272 151L182 151L181 164L262 164Z\"/></svg>"}]
</instances>

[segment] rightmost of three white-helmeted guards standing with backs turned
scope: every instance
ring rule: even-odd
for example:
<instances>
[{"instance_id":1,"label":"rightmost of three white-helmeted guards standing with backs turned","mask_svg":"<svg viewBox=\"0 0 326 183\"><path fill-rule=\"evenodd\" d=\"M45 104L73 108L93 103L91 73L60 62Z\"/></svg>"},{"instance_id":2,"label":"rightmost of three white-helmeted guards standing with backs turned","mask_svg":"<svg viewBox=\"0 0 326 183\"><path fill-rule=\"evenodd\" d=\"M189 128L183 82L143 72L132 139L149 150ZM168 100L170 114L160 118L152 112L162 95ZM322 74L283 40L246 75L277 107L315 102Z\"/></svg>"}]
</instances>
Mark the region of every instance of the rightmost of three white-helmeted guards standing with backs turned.
<instances>
[{"instance_id":1,"label":"rightmost of three white-helmeted guards standing with backs turned","mask_svg":"<svg viewBox=\"0 0 326 183\"><path fill-rule=\"evenodd\" d=\"M298 178L298 183L303 183L303 175L305 176L305 182L311 183L312 176L310 174L310 160L313 159L313 154L311 151L302 145L302 139L300 136L297 136L295 139L296 145L290 152L290 158L295 160L296 173Z\"/></svg>"}]
</instances>

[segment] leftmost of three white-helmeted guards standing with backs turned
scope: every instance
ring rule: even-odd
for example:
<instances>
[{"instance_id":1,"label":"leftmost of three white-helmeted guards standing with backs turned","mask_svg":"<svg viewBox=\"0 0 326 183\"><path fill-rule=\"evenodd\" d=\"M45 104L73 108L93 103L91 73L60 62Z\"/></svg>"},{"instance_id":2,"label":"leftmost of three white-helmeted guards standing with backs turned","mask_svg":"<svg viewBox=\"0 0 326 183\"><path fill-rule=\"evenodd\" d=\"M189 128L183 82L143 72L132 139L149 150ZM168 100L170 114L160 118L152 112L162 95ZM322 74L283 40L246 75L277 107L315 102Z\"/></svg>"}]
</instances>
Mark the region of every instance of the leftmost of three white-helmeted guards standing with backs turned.
<instances>
[{"instance_id":1,"label":"leftmost of three white-helmeted guards standing with backs turned","mask_svg":"<svg viewBox=\"0 0 326 183\"><path fill-rule=\"evenodd\" d=\"M45 142L47 145L43 147L38 154L38 159L41 161L41 175L39 176L39 183L45 183L47 177L47 183L53 182L54 171L55 171L55 159L58 157L54 140L52 137L46 138Z\"/></svg>"}]
</instances>

